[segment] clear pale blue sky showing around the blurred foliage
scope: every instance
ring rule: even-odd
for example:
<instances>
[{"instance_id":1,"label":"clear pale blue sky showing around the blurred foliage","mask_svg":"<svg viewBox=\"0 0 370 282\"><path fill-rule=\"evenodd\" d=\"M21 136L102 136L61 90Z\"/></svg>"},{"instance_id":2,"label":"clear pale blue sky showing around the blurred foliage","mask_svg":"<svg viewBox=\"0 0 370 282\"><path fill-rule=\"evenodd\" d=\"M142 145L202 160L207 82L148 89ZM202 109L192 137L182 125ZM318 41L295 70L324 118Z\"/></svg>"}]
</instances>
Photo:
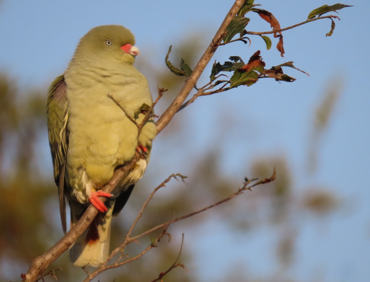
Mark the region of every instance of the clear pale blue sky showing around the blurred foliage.
<instances>
[{"instance_id":1,"label":"clear pale blue sky showing around the blurred foliage","mask_svg":"<svg viewBox=\"0 0 370 282\"><path fill-rule=\"evenodd\" d=\"M3 0L0 4L0 70L9 71L10 77L20 83L21 90L41 88L46 91L54 77L63 73L75 45L90 28L102 24L122 24L136 37L141 50L138 65L146 62L151 66L163 67L169 45L176 48L185 36L201 34L207 46L221 24L233 1L19 1ZM307 18L308 13L323 4L334 4L321 0L313 1L255 1L271 11L282 27L291 26ZM315 21L284 33L285 57L281 58L273 47L267 51L260 38L252 39L252 46L242 43L228 48L219 48L212 60L225 61L228 56L239 55L246 61L261 50L266 66L286 61L295 61L295 66L310 73L310 77L295 70L285 73L297 78L294 83L276 83L273 80L259 81L248 88L239 87L228 94L201 97L185 111L192 117L180 114L176 118L188 117L191 127L192 149L202 152L209 147L210 138L215 146L222 147L225 171L242 179L245 160L253 161L268 155L286 155L289 167L295 175L295 189L323 184L333 189L340 198L353 202L356 208L347 216L330 218L324 235L317 235L317 226L305 227L299 240L302 261L295 266L295 277L312 281L317 265L324 264L327 272L324 281L358 281L370 279L370 97L367 67L369 59L368 1L353 0L344 4L354 7L341 10L332 37L325 37L330 30L330 20ZM267 31L269 24L251 15L249 30ZM195 43L195 46L198 43ZM212 61L211 60L211 61ZM175 61L175 59L173 60ZM209 67L207 68L209 71ZM156 91L154 75L142 70ZM201 78L206 83L208 74ZM319 167L314 175L307 175L305 162L309 144L313 112L322 101L326 89L332 85L343 85L334 114L325 132L319 151ZM221 118L229 118L233 127L221 134L216 130L215 118L205 114L210 106ZM242 114L238 114L242 113ZM202 121L202 127L199 126ZM219 122L219 120L217 121ZM197 125L198 124L198 125ZM214 128L208 132L202 128ZM239 130L238 130L239 128ZM245 128L248 130L240 130ZM164 158L166 140L160 134L155 142L159 150L153 151L147 175L155 175L156 164L168 163L163 175L165 179L173 172L187 174L191 165L179 164L171 155ZM165 134L163 134L165 135ZM243 150L235 148L243 140ZM42 141L47 144L47 140ZM213 143L212 143L213 144ZM219 146L219 144L222 144ZM44 155L48 157L48 148ZM184 158L185 159L185 158ZM165 161L164 161L165 160ZM46 162L51 174L51 161ZM240 168L242 167L242 171ZM189 175L188 175L189 176ZM56 196L56 195L55 195ZM220 223L210 222L210 230L217 230ZM260 230L264 234L263 230ZM268 231L265 231L268 232ZM225 231L225 234L227 232ZM218 232L211 232L195 242L200 258L213 257L199 272L202 281L213 281L225 273L230 265L220 262L213 254L212 242L219 239ZM213 235L215 234L215 235ZM218 235L217 235L218 234ZM238 242L239 235L226 234L231 241ZM195 237L195 236L194 236ZM266 248L268 235L253 239L254 244L235 246L231 256L250 258L240 250L248 249L256 254ZM239 250L239 251L238 251ZM230 261L232 258L230 258ZM214 269L214 265L217 269ZM266 268L263 258L252 263L257 272ZM213 265L213 268L212 268ZM267 264L268 265L268 264ZM223 267L222 267L223 266ZM346 269L349 269L348 271ZM340 270L339 270L340 269ZM344 269L343 274L341 271ZM214 276L213 276L214 275ZM343 278L343 277L349 278ZM308 277L308 278L307 278ZM347 280L346 280L347 279Z\"/></svg>"}]
</instances>

